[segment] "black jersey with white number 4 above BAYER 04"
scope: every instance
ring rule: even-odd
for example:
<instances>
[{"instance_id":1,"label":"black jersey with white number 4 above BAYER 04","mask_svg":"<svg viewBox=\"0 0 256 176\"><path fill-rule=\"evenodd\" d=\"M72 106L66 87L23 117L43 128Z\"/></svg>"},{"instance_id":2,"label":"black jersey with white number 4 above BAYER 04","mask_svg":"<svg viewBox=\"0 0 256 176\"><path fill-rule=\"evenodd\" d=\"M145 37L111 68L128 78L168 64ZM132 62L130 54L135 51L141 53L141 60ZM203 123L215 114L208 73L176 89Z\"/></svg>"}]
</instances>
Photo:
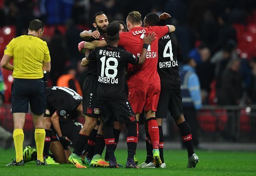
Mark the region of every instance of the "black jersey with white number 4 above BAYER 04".
<instances>
[{"instance_id":1,"label":"black jersey with white number 4 above BAYER 04","mask_svg":"<svg viewBox=\"0 0 256 176\"><path fill-rule=\"evenodd\" d=\"M182 61L181 47L174 33L167 33L158 41L157 72L161 89L180 89L178 61Z\"/></svg>"}]
</instances>

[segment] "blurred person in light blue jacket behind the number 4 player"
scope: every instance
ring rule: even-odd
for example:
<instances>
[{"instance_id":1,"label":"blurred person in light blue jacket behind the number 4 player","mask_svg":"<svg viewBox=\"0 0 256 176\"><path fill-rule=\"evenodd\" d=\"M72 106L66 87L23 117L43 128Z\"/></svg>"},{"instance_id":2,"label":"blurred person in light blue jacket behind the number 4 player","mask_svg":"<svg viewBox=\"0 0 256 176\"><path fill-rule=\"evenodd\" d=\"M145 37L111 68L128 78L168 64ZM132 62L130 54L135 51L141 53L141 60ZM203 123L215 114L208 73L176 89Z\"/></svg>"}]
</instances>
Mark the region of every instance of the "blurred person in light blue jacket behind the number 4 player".
<instances>
[{"instance_id":1,"label":"blurred person in light blue jacket behind the number 4 player","mask_svg":"<svg viewBox=\"0 0 256 176\"><path fill-rule=\"evenodd\" d=\"M181 94L184 117L190 126L193 136L194 148L200 148L198 139L197 110L202 107L200 82L195 72L196 62L193 58L184 60L184 66L180 72ZM184 145L184 144L183 144Z\"/></svg>"}]
</instances>

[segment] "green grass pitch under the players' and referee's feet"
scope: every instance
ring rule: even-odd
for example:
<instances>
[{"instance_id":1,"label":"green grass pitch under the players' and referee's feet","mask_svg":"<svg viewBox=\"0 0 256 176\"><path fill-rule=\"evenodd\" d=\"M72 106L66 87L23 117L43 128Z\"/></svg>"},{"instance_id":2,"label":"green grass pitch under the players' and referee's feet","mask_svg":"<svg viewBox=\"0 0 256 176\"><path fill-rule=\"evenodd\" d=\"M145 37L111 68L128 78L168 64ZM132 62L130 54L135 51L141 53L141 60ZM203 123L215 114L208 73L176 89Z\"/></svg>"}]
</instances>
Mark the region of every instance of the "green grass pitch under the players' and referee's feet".
<instances>
[{"instance_id":1,"label":"green grass pitch under the players' and referee's feet","mask_svg":"<svg viewBox=\"0 0 256 176\"><path fill-rule=\"evenodd\" d=\"M165 150L165 169L110 169L95 168L86 169L75 168L72 164L36 166L34 161L25 164L25 167L6 167L5 164L14 159L15 150L0 149L0 176L11 175L89 175L89 176L156 176L156 175L256 175L256 153L255 152L215 152L197 151L200 162L196 168L187 169L187 151L185 150ZM137 151L139 163L144 162L146 152ZM118 149L116 152L117 161L126 164L127 152Z\"/></svg>"}]
</instances>

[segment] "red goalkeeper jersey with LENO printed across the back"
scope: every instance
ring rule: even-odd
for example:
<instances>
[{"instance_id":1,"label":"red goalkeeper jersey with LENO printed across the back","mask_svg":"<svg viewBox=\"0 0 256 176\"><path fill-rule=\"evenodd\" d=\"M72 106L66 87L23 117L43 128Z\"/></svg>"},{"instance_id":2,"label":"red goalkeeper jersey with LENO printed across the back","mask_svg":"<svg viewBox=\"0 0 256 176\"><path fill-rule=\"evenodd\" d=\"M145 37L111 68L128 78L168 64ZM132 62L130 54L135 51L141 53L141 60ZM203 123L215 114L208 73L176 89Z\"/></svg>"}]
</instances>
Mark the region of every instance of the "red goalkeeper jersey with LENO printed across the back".
<instances>
[{"instance_id":1,"label":"red goalkeeper jersey with LENO printed across the back","mask_svg":"<svg viewBox=\"0 0 256 176\"><path fill-rule=\"evenodd\" d=\"M146 60L143 65L128 65L128 87L137 87L160 82L157 73L158 39L169 32L168 26L133 27L129 32L120 33L118 45L128 52L139 56L143 47L145 34L156 33L156 39L147 49Z\"/></svg>"}]
</instances>

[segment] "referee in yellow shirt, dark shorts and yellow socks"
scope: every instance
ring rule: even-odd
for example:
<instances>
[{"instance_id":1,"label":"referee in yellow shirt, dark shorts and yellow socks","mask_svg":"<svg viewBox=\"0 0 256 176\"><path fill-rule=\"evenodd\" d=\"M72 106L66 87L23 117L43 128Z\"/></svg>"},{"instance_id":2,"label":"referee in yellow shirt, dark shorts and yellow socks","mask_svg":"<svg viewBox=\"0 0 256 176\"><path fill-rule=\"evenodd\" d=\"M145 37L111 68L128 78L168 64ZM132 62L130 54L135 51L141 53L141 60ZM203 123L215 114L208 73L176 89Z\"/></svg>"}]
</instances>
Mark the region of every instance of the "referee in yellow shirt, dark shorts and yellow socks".
<instances>
[{"instance_id":1,"label":"referee in yellow shirt, dark shorts and yellow socks","mask_svg":"<svg viewBox=\"0 0 256 176\"><path fill-rule=\"evenodd\" d=\"M43 115L46 106L45 83L43 71L50 72L50 53L47 43L41 40L44 23L38 19L30 22L28 34L16 37L6 46L1 67L13 71L12 114L13 140L16 159L6 166L24 166L22 145L23 126L31 106L35 127L34 139L37 146L37 165L47 165L43 158L45 130ZM13 65L9 63L13 57Z\"/></svg>"}]
</instances>

